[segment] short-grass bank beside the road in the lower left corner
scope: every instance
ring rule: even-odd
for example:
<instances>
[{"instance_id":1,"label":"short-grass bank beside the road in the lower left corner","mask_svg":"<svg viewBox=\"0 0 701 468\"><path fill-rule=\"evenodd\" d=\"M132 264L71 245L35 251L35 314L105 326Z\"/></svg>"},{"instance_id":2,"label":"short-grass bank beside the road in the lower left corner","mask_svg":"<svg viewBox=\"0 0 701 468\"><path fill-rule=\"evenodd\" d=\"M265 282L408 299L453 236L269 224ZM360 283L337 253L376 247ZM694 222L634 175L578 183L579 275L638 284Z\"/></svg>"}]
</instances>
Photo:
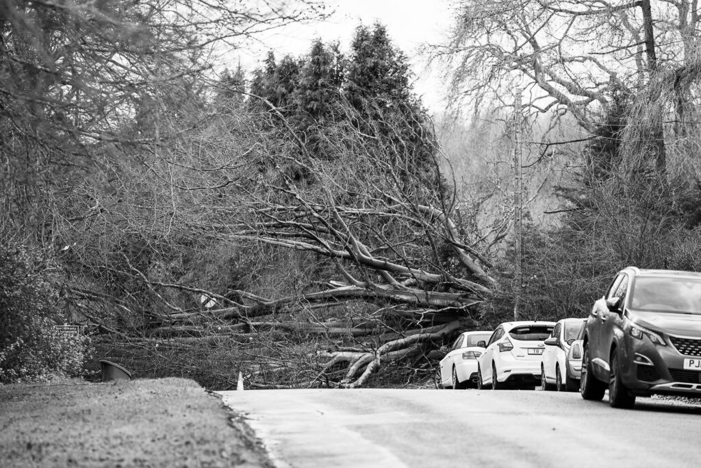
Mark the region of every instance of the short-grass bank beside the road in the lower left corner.
<instances>
[{"instance_id":1,"label":"short-grass bank beside the road in the lower left corner","mask_svg":"<svg viewBox=\"0 0 701 468\"><path fill-rule=\"evenodd\" d=\"M0 386L3 467L270 467L191 380Z\"/></svg>"}]
</instances>

